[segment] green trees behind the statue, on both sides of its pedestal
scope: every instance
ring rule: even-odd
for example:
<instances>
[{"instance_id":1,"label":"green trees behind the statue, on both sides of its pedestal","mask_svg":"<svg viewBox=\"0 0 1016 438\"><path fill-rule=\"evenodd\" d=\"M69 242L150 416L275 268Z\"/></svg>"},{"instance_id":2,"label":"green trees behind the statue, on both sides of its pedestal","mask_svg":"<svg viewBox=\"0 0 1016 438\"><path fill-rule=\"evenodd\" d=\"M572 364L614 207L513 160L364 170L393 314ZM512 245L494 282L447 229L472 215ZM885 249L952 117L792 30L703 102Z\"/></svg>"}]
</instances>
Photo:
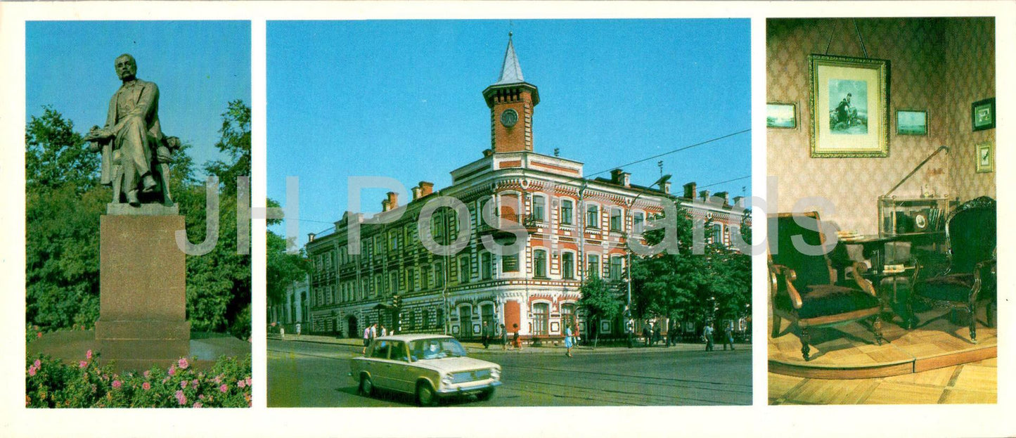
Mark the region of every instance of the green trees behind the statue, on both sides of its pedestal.
<instances>
[{"instance_id":1,"label":"green trees behind the statue, on both sides of its pedestal","mask_svg":"<svg viewBox=\"0 0 1016 438\"><path fill-rule=\"evenodd\" d=\"M223 117L216 147L234 162L205 166L226 188L217 245L208 254L187 256L187 314L194 330L247 337L251 266L249 254L238 254L236 177L250 174L250 109L235 101ZM112 191L99 185L99 154L87 150L60 113L47 107L25 129L26 320L43 330L90 326L99 317L99 220ZM206 234L206 196L194 177L190 147L174 153L170 187L186 215L188 238L198 243Z\"/></svg>"}]
</instances>

